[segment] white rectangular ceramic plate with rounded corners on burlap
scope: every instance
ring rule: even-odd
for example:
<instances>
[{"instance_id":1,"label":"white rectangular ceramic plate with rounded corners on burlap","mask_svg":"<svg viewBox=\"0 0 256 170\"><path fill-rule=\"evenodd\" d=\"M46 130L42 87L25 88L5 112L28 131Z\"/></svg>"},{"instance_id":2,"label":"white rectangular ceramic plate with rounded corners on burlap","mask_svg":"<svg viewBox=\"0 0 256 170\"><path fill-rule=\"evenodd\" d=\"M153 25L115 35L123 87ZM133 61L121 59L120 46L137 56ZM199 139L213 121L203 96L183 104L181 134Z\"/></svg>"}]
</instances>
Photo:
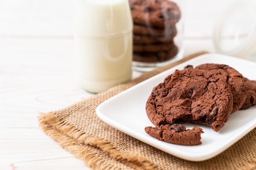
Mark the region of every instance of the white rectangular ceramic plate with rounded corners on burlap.
<instances>
[{"instance_id":1,"label":"white rectangular ceramic plate with rounded corners on burlap","mask_svg":"<svg viewBox=\"0 0 256 170\"><path fill-rule=\"evenodd\" d=\"M159 141L144 131L145 126L154 126L148 120L145 111L145 104L153 87L164 81L164 78L176 69L182 70L186 65L197 66L203 63L227 64L250 80L256 80L256 63L222 54L204 54L149 78L106 100L97 107L96 113L101 120L110 126L166 153L190 161L210 159L256 127L256 106L231 114L229 121L218 132L214 132L211 127L202 124L184 124L187 129L192 129L195 125L203 129L201 145L170 144Z\"/></svg>"}]
</instances>

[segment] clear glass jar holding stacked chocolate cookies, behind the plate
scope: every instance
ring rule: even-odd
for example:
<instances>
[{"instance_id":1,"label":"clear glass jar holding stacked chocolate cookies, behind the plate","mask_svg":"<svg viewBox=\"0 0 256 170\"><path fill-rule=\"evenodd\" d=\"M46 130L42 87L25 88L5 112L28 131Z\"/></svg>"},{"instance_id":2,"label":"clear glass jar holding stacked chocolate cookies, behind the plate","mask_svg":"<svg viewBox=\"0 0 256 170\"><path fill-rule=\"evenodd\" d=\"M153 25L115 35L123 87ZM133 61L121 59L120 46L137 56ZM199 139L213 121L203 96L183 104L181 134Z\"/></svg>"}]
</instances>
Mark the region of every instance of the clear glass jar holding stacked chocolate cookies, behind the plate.
<instances>
[{"instance_id":1,"label":"clear glass jar holding stacked chocolate cookies, behind the plate","mask_svg":"<svg viewBox=\"0 0 256 170\"><path fill-rule=\"evenodd\" d=\"M183 3L183 0L129 0L134 24L134 70L149 71L182 59Z\"/></svg>"}]
</instances>

